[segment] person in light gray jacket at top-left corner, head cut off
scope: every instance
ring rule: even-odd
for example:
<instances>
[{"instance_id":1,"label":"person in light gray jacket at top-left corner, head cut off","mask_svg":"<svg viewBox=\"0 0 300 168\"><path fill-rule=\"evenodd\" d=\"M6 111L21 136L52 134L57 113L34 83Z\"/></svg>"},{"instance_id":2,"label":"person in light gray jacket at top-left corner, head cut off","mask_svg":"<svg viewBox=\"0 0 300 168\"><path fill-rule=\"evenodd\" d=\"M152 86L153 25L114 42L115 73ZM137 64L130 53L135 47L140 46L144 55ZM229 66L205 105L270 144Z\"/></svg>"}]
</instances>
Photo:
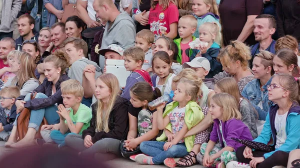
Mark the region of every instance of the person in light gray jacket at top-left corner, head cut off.
<instances>
[{"instance_id":1,"label":"person in light gray jacket at top-left corner, head cut off","mask_svg":"<svg viewBox=\"0 0 300 168\"><path fill-rule=\"evenodd\" d=\"M0 40L3 37L12 37L12 22L21 10L22 0L3 0L0 9Z\"/></svg>"}]
</instances>

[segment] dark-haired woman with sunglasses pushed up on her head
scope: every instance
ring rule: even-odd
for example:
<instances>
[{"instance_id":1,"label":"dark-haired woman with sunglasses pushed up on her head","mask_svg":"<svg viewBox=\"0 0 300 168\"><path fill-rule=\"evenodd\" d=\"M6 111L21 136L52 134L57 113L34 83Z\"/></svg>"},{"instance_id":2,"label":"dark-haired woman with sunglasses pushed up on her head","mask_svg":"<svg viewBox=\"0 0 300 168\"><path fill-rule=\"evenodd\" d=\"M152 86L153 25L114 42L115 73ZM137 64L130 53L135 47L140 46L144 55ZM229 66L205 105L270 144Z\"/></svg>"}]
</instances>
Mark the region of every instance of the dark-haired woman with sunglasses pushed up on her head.
<instances>
[{"instance_id":1,"label":"dark-haired woman with sunglasses pushed up on her head","mask_svg":"<svg viewBox=\"0 0 300 168\"><path fill-rule=\"evenodd\" d=\"M39 46L35 40L25 40L23 42L22 51L27 52L34 59L34 63L36 64L36 68L34 71L35 77L39 79L40 82L43 81L45 76L43 75L42 69L42 58L39 54ZM40 77L40 75L42 75Z\"/></svg>"}]
</instances>

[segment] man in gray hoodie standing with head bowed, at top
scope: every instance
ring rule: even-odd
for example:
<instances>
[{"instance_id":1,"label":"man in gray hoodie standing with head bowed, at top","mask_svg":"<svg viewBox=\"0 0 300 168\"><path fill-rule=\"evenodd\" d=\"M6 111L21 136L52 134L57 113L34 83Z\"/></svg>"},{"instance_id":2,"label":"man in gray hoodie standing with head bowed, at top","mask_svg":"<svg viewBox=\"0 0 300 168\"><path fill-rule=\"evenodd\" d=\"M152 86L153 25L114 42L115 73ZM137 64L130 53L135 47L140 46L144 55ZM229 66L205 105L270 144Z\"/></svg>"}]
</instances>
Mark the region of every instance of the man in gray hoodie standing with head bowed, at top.
<instances>
[{"instance_id":1,"label":"man in gray hoodie standing with head bowed, at top","mask_svg":"<svg viewBox=\"0 0 300 168\"><path fill-rule=\"evenodd\" d=\"M116 44L126 49L134 45L135 24L127 12L119 12L112 0L94 0L93 8L96 16L107 21L100 49ZM99 65L103 69L104 56L99 55Z\"/></svg>"}]
</instances>

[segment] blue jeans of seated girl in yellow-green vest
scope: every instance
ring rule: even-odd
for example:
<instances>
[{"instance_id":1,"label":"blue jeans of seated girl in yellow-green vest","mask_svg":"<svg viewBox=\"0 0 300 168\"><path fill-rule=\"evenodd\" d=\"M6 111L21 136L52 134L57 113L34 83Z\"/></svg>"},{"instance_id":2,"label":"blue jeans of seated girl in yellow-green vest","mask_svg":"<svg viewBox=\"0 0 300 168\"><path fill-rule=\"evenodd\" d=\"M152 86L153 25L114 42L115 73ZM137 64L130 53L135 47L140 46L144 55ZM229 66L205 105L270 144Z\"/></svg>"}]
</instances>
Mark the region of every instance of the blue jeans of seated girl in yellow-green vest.
<instances>
[{"instance_id":1,"label":"blue jeans of seated girl in yellow-green vest","mask_svg":"<svg viewBox=\"0 0 300 168\"><path fill-rule=\"evenodd\" d=\"M139 149L142 153L153 157L152 162L155 165L160 165L167 158L182 158L188 154L184 143L173 145L167 151L163 150L165 142L145 141L140 143Z\"/></svg>"}]
</instances>

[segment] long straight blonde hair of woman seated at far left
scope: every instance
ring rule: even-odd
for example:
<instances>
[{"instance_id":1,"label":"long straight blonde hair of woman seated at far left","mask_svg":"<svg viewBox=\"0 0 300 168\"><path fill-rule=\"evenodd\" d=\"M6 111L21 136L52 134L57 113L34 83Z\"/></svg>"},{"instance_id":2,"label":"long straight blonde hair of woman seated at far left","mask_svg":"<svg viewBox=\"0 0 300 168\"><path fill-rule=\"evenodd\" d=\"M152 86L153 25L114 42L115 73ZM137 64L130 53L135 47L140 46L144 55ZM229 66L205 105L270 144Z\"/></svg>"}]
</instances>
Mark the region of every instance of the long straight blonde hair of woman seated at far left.
<instances>
[{"instance_id":1,"label":"long straight blonde hair of woman seated at far left","mask_svg":"<svg viewBox=\"0 0 300 168\"><path fill-rule=\"evenodd\" d=\"M30 54L19 51L16 55L20 69L16 76L12 79L11 83L16 85L19 90L22 89L24 83L30 78L34 78L38 81L34 75L36 64Z\"/></svg>"}]
</instances>

